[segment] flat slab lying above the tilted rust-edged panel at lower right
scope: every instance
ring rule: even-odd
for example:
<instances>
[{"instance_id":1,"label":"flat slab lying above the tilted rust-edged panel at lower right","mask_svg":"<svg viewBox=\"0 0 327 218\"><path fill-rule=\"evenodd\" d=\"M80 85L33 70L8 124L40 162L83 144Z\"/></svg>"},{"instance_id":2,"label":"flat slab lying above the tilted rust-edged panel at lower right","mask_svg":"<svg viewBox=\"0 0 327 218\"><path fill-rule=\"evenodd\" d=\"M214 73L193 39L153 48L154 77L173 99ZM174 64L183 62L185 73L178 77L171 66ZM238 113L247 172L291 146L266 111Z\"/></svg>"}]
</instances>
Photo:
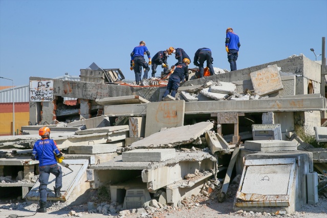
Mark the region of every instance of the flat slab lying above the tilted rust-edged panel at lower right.
<instances>
[{"instance_id":1,"label":"flat slab lying above the tilted rust-edged panel at lower right","mask_svg":"<svg viewBox=\"0 0 327 218\"><path fill-rule=\"evenodd\" d=\"M282 140L245 141L244 148L256 151L288 151L297 150L297 143Z\"/></svg>"}]
</instances>

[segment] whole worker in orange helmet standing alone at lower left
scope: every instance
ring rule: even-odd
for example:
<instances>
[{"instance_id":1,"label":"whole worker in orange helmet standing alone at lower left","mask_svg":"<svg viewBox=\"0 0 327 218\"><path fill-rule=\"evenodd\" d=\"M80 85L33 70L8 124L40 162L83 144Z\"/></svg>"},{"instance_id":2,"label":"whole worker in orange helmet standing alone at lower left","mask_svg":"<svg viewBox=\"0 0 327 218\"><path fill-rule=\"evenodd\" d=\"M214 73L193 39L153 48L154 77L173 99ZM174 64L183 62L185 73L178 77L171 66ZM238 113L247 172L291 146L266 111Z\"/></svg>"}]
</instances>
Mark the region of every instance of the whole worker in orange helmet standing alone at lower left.
<instances>
[{"instance_id":1,"label":"whole worker in orange helmet standing alone at lower left","mask_svg":"<svg viewBox=\"0 0 327 218\"><path fill-rule=\"evenodd\" d=\"M57 144L54 140L50 139L50 128L42 127L38 130L38 135L41 136L40 140L37 140L34 144L32 151L32 160L39 161L39 178L40 183L39 195L40 195L40 208L36 212L47 212L47 185L49 182L50 173L56 177L54 192L55 197L59 198L60 188L62 187L62 171L61 167L57 164L61 163L63 157Z\"/></svg>"}]
</instances>

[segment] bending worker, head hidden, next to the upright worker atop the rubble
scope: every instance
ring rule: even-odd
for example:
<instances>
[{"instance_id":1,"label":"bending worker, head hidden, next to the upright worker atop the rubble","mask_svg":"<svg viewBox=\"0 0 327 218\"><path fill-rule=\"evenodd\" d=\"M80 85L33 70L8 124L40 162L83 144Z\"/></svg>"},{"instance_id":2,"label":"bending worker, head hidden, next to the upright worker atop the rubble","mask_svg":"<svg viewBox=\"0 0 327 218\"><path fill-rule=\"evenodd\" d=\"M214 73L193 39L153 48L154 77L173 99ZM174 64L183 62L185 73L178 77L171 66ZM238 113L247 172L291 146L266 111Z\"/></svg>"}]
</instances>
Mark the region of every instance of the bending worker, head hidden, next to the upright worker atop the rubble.
<instances>
[{"instance_id":1,"label":"bending worker, head hidden, next to the upright worker atop the rubble","mask_svg":"<svg viewBox=\"0 0 327 218\"><path fill-rule=\"evenodd\" d=\"M198 63L199 60L199 63ZM207 61L207 67L209 68L210 71L210 75L214 75L214 71L213 71L213 67L212 67L212 61L213 58L211 56L211 50L208 48L201 48L198 49L197 52L195 52L194 54L194 61L193 64L197 67L199 67L199 72L200 72L200 78L203 77L203 72L204 72L204 68L203 68L203 64L204 61Z\"/></svg>"}]
</instances>

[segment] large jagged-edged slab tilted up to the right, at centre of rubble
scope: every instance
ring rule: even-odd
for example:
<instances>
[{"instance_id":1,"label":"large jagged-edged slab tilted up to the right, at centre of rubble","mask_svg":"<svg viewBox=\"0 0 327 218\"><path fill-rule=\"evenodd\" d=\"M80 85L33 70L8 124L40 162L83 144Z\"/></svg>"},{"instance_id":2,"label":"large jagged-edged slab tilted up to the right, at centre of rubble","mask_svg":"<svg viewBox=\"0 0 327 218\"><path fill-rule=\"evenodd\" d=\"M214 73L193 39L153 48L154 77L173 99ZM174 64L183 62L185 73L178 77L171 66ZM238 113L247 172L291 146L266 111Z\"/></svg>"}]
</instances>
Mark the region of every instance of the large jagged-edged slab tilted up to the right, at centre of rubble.
<instances>
[{"instance_id":1,"label":"large jagged-edged slab tilted up to the right, at centre of rubble","mask_svg":"<svg viewBox=\"0 0 327 218\"><path fill-rule=\"evenodd\" d=\"M140 141L132 143L130 148L148 148L148 147L167 147L171 148L176 145L188 144L207 130L213 128L211 122L200 122L194 125L167 128L159 133L152 134Z\"/></svg>"}]
</instances>

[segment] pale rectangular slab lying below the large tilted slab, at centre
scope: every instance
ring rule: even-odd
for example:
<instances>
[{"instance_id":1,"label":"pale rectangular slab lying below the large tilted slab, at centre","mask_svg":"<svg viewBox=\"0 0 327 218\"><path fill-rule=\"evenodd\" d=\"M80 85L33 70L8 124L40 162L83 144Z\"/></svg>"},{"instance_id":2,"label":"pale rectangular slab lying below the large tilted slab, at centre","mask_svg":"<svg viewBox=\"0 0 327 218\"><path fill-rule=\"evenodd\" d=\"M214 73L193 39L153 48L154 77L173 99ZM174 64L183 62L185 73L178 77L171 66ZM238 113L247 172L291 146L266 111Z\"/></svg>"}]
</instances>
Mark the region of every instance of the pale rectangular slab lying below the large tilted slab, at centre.
<instances>
[{"instance_id":1,"label":"pale rectangular slab lying below the large tilted slab, at centre","mask_svg":"<svg viewBox=\"0 0 327 218\"><path fill-rule=\"evenodd\" d=\"M135 149L122 152L122 160L129 162L166 161L176 157L175 148Z\"/></svg>"}]
</instances>

